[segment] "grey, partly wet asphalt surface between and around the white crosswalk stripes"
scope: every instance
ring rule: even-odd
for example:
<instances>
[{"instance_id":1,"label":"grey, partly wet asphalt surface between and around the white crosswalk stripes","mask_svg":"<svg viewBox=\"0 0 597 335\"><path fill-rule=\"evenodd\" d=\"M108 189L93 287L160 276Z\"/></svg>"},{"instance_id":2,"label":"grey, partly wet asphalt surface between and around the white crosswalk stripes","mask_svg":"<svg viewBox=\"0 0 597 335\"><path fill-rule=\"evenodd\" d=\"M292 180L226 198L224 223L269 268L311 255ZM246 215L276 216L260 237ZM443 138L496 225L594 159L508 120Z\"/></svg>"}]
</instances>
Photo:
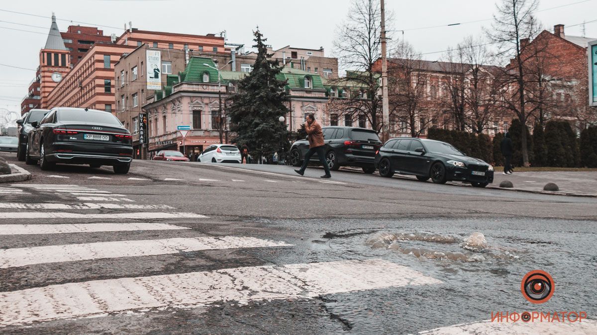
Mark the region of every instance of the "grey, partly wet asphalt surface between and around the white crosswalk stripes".
<instances>
[{"instance_id":1,"label":"grey, partly wet asphalt surface between and around the white crosswalk stripes","mask_svg":"<svg viewBox=\"0 0 597 335\"><path fill-rule=\"evenodd\" d=\"M288 166L135 161L131 173L122 176L107 168L85 166L57 166L45 172L39 166L9 160L33 174L32 180L20 184L93 187L123 194L134 204L167 204L176 208L169 210L172 212L193 212L210 218L152 220L192 228L180 231L3 235L1 249L221 235L285 241L293 246L4 268L0 269L0 294L110 278L373 258L407 266L442 283L328 294L315 299L242 304L229 301L196 308L128 311L12 325L0 328L1 333L408 334L487 320L496 311L573 310L586 311L589 318L597 316L597 198L435 185L353 171L335 172L328 182L319 178L321 169L308 169L306 177L300 177ZM89 179L92 176L110 179ZM1 194L1 202L82 202L70 194L30 193ZM16 211L0 209L0 215ZM138 220L127 220L134 221ZM7 215L0 222L81 223L78 219L24 222ZM85 221L91 222L106 220ZM465 241L475 232L481 233L485 241L470 247ZM381 237L389 235L386 233L398 238L383 240ZM458 258L460 255L466 257ZM549 272L556 283L552 299L540 306L527 302L520 289L522 277L533 269Z\"/></svg>"}]
</instances>

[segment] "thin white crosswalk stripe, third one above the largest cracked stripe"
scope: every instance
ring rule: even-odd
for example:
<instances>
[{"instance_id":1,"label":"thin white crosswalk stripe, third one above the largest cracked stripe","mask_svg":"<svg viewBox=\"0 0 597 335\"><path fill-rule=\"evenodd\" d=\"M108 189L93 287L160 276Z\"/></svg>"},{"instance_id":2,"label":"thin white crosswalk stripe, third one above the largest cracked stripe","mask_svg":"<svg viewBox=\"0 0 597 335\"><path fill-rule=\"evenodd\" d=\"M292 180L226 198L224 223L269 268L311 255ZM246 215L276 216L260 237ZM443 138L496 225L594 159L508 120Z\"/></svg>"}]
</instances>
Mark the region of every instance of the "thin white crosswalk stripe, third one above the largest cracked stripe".
<instances>
[{"instance_id":1,"label":"thin white crosswalk stripe, third one above the largest cracked stripe","mask_svg":"<svg viewBox=\"0 0 597 335\"><path fill-rule=\"evenodd\" d=\"M10 219L176 219L176 218L208 218L208 216L195 213L107 213L107 214L81 214L67 212L2 212L4 218Z\"/></svg>"}]
</instances>

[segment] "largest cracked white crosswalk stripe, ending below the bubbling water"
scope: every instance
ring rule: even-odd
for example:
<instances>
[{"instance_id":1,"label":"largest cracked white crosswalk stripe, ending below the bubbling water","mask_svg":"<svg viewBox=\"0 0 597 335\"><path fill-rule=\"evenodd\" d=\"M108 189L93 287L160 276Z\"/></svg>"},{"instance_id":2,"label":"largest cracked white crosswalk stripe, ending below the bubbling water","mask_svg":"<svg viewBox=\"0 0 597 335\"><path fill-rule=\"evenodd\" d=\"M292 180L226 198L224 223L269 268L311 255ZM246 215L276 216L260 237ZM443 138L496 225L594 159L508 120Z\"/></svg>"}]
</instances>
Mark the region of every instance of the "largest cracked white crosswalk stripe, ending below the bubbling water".
<instances>
[{"instance_id":1,"label":"largest cracked white crosswalk stripe, ending below the bubbling water","mask_svg":"<svg viewBox=\"0 0 597 335\"><path fill-rule=\"evenodd\" d=\"M95 280L0 293L0 326L219 301L313 298L322 294L440 284L386 260L251 266Z\"/></svg>"}]
</instances>

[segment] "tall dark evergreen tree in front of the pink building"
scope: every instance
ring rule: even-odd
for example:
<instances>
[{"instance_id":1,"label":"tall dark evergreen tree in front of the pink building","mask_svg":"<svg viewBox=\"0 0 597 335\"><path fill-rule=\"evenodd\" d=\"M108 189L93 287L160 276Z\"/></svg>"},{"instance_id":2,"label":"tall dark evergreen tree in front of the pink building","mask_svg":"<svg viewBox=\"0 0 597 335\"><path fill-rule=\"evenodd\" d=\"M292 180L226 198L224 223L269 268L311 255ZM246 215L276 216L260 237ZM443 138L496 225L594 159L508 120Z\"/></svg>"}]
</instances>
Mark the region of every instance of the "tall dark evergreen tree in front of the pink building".
<instances>
[{"instance_id":1,"label":"tall dark evergreen tree in front of the pink building","mask_svg":"<svg viewBox=\"0 0 597 335\"><path fill-rule=\"evenodd\" d=\"M231 130L237 145L247 144L253 157L271 157L273 153L283 151L284 141L288 139L286 125L279 121L280 116L288 113L285 103L289 100L285 91L285 81L276 76L282 67L278 61L268 60L267 48L259 29L253 33L257 48L257 58L253 70L238 83L238 92L230 101L228 115Z\"/></svg>"}]
</instances>

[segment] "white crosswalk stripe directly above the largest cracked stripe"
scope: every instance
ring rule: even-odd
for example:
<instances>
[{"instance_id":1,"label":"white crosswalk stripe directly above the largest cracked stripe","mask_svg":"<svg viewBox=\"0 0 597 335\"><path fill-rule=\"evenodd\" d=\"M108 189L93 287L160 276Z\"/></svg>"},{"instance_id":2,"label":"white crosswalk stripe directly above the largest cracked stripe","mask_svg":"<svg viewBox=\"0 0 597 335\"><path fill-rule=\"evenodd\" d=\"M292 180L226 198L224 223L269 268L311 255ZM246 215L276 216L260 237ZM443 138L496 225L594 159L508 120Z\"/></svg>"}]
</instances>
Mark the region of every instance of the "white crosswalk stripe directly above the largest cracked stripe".
<instances>
[{"instance_id":1,"label":"white crosswalk stripe directly above the largest cracked stripe","mask_svg":"<svg viewBox=\"0 0 597 335\"><path fill-rule=\"evenodd\" d=\"M73 262L75 260L168 255L198 250L283 246L292 246L292 244L261 240L254 237L224 236L13 248L0 250L0 268L6 269L33 264Z\"/></svg>"}]
</instances>

